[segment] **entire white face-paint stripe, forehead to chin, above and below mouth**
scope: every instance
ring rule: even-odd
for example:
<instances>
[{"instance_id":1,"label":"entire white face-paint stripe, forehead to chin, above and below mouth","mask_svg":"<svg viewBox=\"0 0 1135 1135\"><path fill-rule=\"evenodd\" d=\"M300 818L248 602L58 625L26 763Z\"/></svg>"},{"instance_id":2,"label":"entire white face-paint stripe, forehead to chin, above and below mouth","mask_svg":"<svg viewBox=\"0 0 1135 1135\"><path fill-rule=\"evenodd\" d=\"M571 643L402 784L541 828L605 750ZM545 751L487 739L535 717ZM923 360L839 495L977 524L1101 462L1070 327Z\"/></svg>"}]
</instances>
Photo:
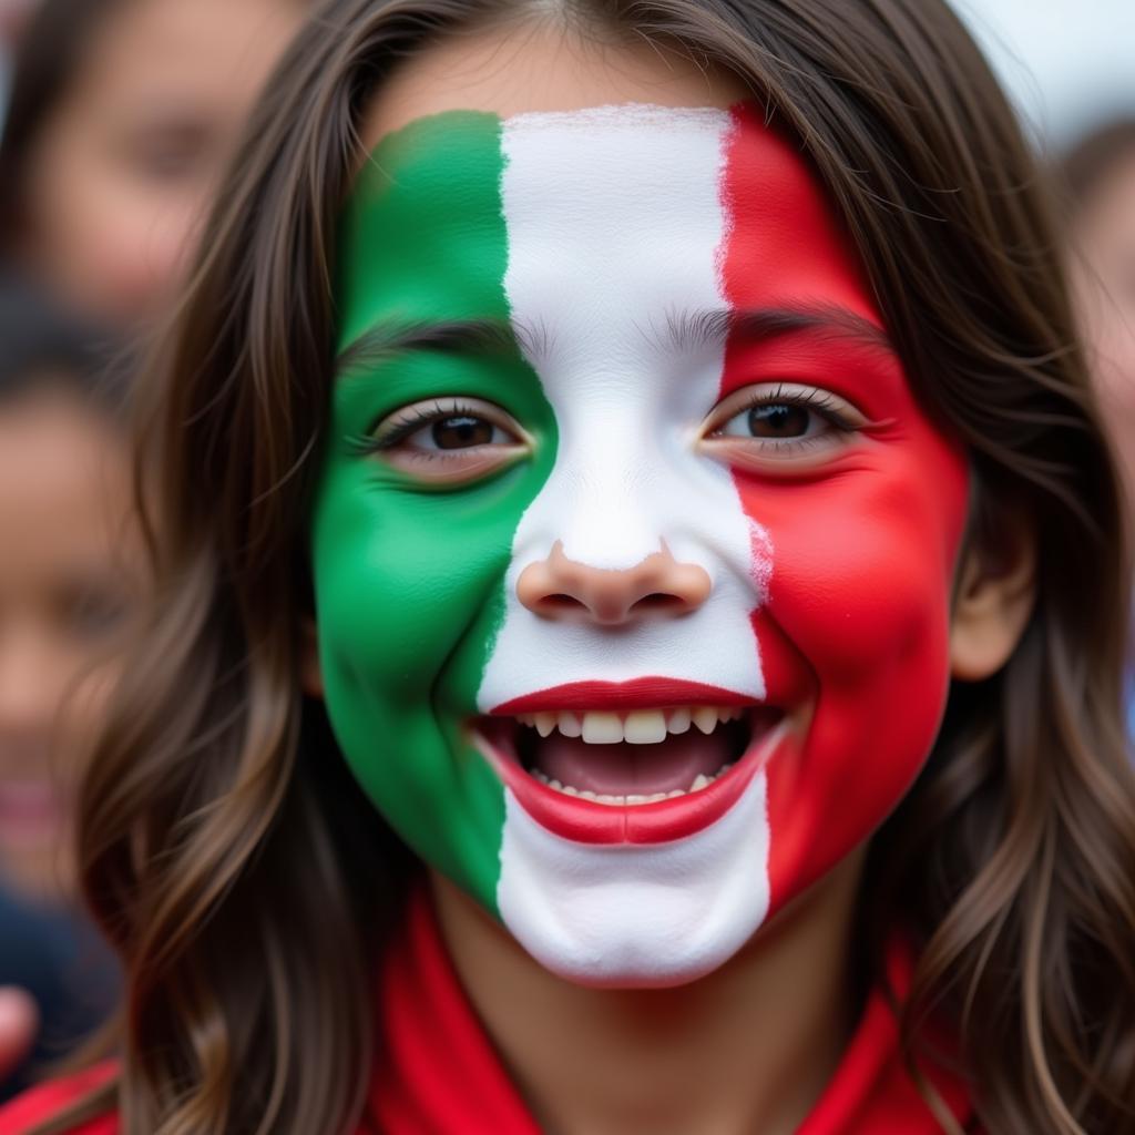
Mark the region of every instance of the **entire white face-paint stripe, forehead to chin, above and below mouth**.
<instances>
[{"instance_id":1,"label":"entire white face-paint stripe, forehead to chin, above and below mouth","mask_svg":"<svg viewBox=\"0 0 1135 1135\"><path fill-rule=\"evenodd\" d=\"M766 533L697 431L724 345L678 348L683 317L728 308L721 175L731 118L617 107L504 123L502 200L512 318L560 430L556 464L513 543L505 617L478 703L566 682L684 679L754 699L765 683L750 613L772 570ZM520 573L556 541L630 569L665 545L708 574L695 612L609 628L538 617ZM763 549L763 550L758 550ZM497 901L516 939L578 981L672 984L720 965L768 907L764 776L716 824L651 847L554 835L506 793Z\"/></svg>"}]
</instances>

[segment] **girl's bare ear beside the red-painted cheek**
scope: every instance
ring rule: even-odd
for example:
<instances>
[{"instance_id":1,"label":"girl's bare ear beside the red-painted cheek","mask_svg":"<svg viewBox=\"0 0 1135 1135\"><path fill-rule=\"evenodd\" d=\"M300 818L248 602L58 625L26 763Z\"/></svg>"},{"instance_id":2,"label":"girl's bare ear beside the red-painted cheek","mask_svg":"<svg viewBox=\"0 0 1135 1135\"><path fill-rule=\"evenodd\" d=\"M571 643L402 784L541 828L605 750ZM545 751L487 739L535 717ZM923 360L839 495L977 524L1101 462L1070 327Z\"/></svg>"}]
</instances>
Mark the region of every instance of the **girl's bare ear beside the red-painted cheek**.
<instances>
[{"instance_id":1,"label":"girl's bare ear beside the red-painted cheek","mask_svg":"<svg viewBox=\"0 0 1135 1135\"><path fill-rule=\"evenodd\" d=\"M995 674L1020 641L1036 598L1036 541L1017 530L993 555L970 547L958 569L950 628L950 673L962 682Z\"/></svg>"}]
</instances>

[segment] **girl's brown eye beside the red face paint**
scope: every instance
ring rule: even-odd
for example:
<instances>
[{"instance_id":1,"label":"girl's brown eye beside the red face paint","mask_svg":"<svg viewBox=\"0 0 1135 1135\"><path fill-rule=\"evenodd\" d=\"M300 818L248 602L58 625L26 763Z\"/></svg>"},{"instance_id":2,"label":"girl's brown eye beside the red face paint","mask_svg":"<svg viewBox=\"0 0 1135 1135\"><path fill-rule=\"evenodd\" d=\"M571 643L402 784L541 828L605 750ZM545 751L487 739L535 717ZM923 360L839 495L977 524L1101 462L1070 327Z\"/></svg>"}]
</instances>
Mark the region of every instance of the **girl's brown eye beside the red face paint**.
<instances>
[{"instance_id":1,"label":"girl's brown eye beside the red face paint","mask_svg":"<svg viewBox=\"0 0 1135 1135\"><path fill-rule=\"evenodd\" d=\"M816 459L847 444L869 424L843 398L813 386L765 382L735 390L706 421L703 443L728 460Z\"/></svg>"}]
</instances>

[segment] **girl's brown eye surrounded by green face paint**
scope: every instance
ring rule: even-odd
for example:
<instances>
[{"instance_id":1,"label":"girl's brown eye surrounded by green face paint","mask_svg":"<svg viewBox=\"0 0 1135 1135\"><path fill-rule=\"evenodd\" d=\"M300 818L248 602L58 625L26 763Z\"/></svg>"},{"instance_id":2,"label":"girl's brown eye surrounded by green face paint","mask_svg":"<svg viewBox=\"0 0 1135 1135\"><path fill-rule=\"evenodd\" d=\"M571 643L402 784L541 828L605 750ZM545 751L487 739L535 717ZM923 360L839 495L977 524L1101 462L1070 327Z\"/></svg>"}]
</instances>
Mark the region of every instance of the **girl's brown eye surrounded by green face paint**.
<instances>
[{"instance_id":1,"label":"girl's brown eye surrounded by green face paint","mask_svg":"<svg viewBox=\"0 0 1135 1135\"><path fill-rule=\"evenodd\" d=\"M516 421L491 402L444 397L388 414L359 448L419 480L464 484L510 464L530 445Z\"/></svg>"}]
</instances>

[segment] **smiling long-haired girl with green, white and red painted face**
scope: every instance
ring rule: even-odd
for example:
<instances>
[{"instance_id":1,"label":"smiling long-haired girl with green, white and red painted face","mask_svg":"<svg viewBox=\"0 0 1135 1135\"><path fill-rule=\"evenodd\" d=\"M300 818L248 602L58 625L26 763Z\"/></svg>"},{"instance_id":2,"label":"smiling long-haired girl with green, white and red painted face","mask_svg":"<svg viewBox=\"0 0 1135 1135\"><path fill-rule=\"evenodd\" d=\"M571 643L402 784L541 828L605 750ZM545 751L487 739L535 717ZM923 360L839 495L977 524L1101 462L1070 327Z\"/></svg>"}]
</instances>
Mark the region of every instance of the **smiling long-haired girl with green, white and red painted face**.
<instances>
[{"instance_id":1,"label":"smiling long-haired girl with green, white and red painted face","mask_svg":"<svg viewBox=\"0 0 1135 1135\"><path fill-rule=\"evenodd\" d=\"M334 0L250 138L83 794L120 1058L0 1127L1135 1129L1115 477L945 6Z\"/></svg>"}]
</instances>

